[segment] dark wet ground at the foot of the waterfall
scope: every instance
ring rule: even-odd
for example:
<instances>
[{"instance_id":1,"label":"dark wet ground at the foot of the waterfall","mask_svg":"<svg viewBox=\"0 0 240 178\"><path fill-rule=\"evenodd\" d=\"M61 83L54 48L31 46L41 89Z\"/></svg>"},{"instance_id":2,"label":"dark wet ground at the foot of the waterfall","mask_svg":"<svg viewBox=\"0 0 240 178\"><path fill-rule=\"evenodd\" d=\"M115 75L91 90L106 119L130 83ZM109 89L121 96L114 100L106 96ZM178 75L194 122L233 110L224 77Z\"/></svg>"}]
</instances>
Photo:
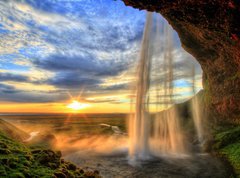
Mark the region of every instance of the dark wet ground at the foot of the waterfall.
<instances>
[{"instance_id":1,"label":"dark wet ground at the foot of the waterfall","mask_svg":"<svg viewBox=\"0 0 240 178\"><path fill-rule=\"evenodd\" d=\"M66 159L80 165L84 169L97 169L106 178L226 178L228 170L216 158L208 154L186 156L183 158L152 158L141 162L141 165L128 164L126 154L119 155L89 155L80 153L65 156Z\"/></svg>"}]
</instances>

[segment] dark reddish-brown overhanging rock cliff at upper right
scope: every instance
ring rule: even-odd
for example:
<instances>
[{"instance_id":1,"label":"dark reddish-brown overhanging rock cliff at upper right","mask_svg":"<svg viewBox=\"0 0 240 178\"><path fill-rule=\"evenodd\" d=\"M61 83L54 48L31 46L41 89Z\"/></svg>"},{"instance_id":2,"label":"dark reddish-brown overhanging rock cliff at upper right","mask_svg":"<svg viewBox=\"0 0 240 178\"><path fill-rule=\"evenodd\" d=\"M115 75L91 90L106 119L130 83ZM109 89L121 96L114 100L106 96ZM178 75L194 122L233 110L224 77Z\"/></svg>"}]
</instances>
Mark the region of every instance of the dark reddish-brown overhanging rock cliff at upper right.
<instances>
[{"instance_id":1,"label":"dark reddish-brown overhanging rock cliff at upper right","mask_svg":"<svg viewBox=\"0 0 240 178\"><path fill-rule=\"evenodd\" d=\"M205 101L218 121L240 123L240 1L123 0L161 13L203 69Z\"/></svg>"}]
</instances>

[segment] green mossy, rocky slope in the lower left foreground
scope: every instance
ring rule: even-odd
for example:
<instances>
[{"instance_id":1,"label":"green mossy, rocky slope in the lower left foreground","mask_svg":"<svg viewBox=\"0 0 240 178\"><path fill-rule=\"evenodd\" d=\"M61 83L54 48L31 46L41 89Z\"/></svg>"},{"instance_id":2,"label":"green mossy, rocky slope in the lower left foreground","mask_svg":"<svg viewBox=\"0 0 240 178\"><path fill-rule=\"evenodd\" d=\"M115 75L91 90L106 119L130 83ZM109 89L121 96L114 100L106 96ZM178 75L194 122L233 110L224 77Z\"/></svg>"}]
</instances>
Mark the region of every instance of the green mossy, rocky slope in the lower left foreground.
<instances>
[{"instance_id":1,"label":"green mossy, rocky slope in the lower left foreground","mask_svg":"<svg viewBox=\"0 0 240 178\"><path fill-rule=\"evenodd\" d=\"M74 178L100 177L98 171L84 171L61 159L61 152L30 148L0 132L0 177Z\"/></svg>"}]
</instances>

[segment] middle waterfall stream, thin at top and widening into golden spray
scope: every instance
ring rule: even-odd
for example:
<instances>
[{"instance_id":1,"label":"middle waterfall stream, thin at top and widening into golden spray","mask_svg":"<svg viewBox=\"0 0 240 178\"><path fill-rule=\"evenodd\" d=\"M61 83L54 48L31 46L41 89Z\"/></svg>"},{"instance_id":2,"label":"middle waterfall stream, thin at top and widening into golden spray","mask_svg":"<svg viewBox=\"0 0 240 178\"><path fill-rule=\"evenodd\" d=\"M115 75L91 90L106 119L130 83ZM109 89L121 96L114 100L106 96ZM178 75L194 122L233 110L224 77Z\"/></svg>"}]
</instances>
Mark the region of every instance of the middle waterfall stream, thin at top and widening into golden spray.
<instances>
[{"instance_id":1,"label":"middle waterfall stream, thin at top and widening into golden spray","mask_svg":"<svg viewBox=\"0 0 240 178\"><path fill-rule=\"evenodd\" d=\"M181 122L174 105L174 71L173 71L173 34L170 26L163 27L163 107L165 111L158 112L154 118L152 153L155 155L181 155L187 152L184 144ZM160 40L160 38L156 38ZM161 59L160 59L161 61ZM158 61L158 62L160 62Z\"/></svg>"}]
</instances>

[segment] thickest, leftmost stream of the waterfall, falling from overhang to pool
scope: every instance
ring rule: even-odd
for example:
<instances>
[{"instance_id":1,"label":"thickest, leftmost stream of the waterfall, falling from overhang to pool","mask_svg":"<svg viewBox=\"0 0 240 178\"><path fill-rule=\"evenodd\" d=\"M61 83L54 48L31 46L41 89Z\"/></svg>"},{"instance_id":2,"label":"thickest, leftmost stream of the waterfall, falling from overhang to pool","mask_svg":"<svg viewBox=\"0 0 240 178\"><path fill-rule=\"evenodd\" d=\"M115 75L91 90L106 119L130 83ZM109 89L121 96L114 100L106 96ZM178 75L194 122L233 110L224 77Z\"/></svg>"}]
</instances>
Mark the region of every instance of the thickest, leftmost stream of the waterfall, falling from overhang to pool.
<instances>
[{"instance_id":1,"label":"thickest, leftmost stream of the waterfall, falling from overhang to pool","mask_svg":"<svg viewBox=\"0 0 240 178\"><path fill-rule=\"evenodd\" d=\"M129 155L132 159L146 159L149 156L150 117L147 100L151 67L151 54L149 53L151 29L152 13L148 12L138 65L135 114L129 124Z\"/></svg>"}]
</instances>

